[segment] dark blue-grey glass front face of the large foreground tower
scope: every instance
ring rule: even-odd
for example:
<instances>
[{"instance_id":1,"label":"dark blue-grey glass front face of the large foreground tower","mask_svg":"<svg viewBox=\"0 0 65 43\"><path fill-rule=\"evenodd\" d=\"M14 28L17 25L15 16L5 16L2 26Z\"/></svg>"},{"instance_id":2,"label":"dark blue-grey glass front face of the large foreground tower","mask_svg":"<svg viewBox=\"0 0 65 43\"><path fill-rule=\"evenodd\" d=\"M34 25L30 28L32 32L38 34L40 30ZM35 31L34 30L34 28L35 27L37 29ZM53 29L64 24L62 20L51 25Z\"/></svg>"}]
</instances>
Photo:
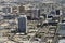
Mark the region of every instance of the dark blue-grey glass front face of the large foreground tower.
<instances>
[{"instance_id":1,"label":"dark blue-grey glass front face of the large foreground tower","mask_svg":"<svg viewBox=\"0 0 65 43\"><path fill-rule=\"evenodd\" d=\"M26 18L18 18L18 32L26 32Z\"/></svg>"}]
</instances>

